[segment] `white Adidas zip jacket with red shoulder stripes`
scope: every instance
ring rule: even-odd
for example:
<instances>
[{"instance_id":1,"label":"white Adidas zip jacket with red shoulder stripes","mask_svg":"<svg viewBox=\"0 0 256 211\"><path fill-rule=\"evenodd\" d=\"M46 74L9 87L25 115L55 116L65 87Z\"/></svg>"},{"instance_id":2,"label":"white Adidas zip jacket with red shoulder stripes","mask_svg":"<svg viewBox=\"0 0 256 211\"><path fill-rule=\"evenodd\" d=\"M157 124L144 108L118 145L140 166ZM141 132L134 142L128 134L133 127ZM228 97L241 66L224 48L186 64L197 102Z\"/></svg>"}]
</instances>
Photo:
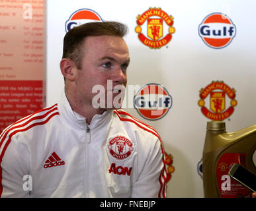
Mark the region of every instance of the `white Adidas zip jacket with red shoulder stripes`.
<instances>
[{"instance_id":1,"label":"white Adidas zip jacket with red shoulder stripes","mask_svg":"<svg viewBox=\"0 0 256 211\"><path fill-rule=\"evenodd\" d=\"M90 125L60 102L0 135L1 197L165 197L161 138L122 109ZM30 188L26 184L28 180Z\"/></svg>"}]
</instances>

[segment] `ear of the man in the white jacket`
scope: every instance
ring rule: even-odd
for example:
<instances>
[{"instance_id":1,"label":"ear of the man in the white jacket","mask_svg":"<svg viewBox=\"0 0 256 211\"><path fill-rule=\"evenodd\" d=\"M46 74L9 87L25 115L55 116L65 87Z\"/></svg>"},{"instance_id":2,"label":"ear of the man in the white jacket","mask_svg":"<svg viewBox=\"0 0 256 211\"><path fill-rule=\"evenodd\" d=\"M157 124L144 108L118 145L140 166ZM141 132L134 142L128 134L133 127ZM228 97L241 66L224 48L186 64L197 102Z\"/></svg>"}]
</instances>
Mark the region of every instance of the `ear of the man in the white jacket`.
<instances>
[{"instance_id":1,"label":"ear of the man in the white jacket","mask_svg":"<svg viewBox=\"0 0 256 211\"><path fill-rule=\"evenodd\" d=\"M60 70L66 80L75 80L76 65L71 59L62 59L60 61Z\"/></svg>"}]
</instances>

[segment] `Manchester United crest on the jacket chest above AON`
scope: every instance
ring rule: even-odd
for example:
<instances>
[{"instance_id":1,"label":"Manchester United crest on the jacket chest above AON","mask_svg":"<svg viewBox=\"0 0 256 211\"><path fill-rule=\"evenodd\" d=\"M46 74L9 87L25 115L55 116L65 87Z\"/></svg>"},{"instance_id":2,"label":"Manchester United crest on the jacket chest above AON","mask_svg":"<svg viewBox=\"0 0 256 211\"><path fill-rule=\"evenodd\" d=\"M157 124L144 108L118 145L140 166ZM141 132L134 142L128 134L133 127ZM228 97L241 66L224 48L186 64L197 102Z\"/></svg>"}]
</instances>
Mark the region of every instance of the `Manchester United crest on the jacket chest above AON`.
<instances>
[{"instance_id":1,"label":"Manchester United crest on the jacket chest above AON","mask_svg":"<svg viewBox=\"0 0 256 211\"><path fill-rule=\"evenodd\" d=\"M134 143L124 136L115 136L114 138L109 138L107 148L114 158L123 160L128 158L134 151Z\"/></svg>"}]
</instances>

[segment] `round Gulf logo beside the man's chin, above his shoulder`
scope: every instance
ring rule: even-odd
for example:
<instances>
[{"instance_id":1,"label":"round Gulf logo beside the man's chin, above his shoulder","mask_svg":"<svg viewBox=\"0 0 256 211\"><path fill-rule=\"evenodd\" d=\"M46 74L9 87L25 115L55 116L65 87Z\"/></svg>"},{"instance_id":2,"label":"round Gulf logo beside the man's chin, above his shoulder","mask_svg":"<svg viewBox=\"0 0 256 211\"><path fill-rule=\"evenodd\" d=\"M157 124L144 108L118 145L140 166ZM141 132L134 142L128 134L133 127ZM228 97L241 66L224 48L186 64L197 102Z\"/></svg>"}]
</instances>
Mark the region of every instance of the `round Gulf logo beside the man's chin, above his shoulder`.
<instances>
[{"instance_id":1,"label":"round Gulf logo beside the man's chin, above his shoulder","mask_svg":"<svg viewBox=\"0 0 256 211\"><path fill-rule=\"evenodd\" d=\"M134 96L134 107L148 120L161 119L171 106L172 98L169 92L159 84L146 84Z\"/></svg>"}]
</instances>

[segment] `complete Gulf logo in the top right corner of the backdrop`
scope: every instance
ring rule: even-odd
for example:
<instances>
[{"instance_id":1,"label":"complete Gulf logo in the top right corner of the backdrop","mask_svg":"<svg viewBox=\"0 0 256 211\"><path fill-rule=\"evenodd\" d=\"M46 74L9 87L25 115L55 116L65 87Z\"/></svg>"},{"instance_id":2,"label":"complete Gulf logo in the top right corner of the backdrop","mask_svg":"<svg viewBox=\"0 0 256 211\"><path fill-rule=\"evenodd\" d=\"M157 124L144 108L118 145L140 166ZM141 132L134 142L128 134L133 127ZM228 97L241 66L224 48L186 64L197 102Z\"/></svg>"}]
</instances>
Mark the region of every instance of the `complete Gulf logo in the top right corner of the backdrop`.
<instances>
[{"instance_id":1,"label":"complete Gulf logo in the top right corner of the backdrop","mask_svg":"<svg viewBox=\"0 0 256 211\"><path fill-rule=\"evenodd\" d=\"M202 20L198 33L206 45L220 49L232 42L236 28L228 16L223 13L212 13Z\"/></svg>"}]
</instances>

